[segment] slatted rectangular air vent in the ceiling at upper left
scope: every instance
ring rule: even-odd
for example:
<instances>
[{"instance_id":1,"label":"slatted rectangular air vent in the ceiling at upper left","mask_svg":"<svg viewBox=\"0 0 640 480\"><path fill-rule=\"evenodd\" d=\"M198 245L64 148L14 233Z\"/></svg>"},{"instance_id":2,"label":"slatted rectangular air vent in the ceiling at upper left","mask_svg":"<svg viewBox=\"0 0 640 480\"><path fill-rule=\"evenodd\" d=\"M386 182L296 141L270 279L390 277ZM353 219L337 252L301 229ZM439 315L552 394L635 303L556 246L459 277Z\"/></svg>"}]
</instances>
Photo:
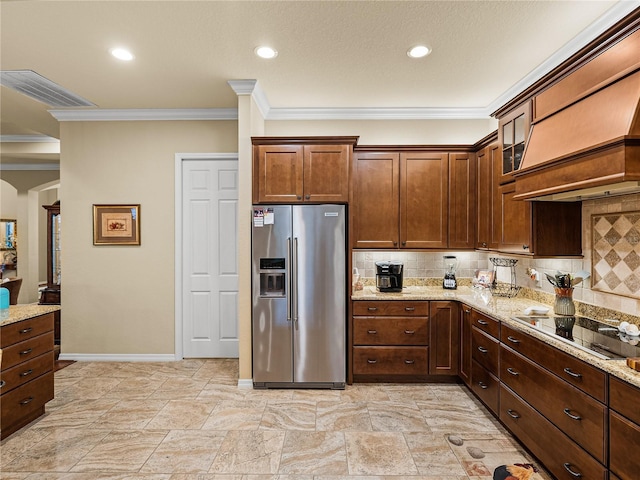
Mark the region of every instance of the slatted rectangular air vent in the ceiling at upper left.
<instances>
[{"instance_id":1,"label":"slatted rectangular air vent in the ceiling at upper left","mask_svg":"<svg viewBox=\"0 0 640 480\"><path fill-rule=\"evenodd\" d=\"M52 107L95 106L32 70L3 70L0 72L0 84Z\"/></svg>"}]
</instances>

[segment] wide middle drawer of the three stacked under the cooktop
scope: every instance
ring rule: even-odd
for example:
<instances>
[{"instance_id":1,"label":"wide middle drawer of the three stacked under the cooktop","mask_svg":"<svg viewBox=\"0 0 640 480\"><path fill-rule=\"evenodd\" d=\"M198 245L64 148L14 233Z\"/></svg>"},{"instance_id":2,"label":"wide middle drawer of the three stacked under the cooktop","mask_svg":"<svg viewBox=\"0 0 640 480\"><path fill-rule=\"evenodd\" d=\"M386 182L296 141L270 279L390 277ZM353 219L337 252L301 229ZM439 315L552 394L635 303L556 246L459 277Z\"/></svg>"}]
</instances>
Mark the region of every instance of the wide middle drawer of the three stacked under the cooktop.
<instances>
[{"instance_id":1,"label":"wide middle drawer of the three stacked under the cooktop","mask_svg":"<svg viewBox=\"0 0 640 480\"><path fill-rule=\"evenodd\" d=\"M504 346L500 380L596 460L606 463L605 405Z\"/></svg>"}]
</instances>

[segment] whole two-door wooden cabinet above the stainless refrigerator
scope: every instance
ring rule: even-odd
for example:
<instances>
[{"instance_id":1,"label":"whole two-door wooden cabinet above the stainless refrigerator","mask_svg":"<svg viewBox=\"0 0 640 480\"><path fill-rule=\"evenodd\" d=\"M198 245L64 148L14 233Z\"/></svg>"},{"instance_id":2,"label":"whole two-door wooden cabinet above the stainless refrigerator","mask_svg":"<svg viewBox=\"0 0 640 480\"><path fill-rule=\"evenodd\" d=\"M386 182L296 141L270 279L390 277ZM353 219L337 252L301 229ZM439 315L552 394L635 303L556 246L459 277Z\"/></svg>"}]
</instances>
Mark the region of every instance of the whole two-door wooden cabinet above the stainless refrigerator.
<instances>
[{"instance_id":1,"label":"whole two-door wooden cabinet above the stainless refrigerator","mask_svg":"<svg viewBox=\"0 0 640 480\"><path fill-rule=\"evenodd\" d=\"M347 203L357 137L255 137L255 203Z\"/></svg>"}]
</instances>

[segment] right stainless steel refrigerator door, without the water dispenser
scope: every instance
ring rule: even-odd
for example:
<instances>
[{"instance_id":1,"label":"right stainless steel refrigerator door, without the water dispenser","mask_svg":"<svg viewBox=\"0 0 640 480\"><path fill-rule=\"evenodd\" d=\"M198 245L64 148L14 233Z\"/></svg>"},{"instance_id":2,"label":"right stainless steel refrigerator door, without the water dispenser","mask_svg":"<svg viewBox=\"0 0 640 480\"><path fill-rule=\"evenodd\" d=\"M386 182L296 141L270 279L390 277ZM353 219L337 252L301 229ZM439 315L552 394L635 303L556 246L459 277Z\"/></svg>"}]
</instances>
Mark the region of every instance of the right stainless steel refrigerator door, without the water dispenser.
<instances>
[{"instance_id":1,"label":"right stainless steel refrigerator door, without the water dispenser","mask_svg":"<svg viewBox=\"0 0 640 480\"><path fill-rule=\"evenodd\" d=\"M344 205L293 206L294 382L344 383Z\"/></svg>"}]
</instances>

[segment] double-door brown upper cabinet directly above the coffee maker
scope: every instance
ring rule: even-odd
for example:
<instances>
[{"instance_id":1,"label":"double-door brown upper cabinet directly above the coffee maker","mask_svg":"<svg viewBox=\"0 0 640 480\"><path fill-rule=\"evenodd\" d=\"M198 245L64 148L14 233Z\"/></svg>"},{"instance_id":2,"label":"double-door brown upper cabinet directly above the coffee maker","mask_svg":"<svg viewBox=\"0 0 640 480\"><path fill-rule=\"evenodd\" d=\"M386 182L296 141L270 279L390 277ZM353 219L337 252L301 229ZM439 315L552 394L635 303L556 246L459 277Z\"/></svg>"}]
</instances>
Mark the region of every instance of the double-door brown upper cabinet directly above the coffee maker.
<instances>
[{"instance_id":1,"label":"double-door brown upper cabinet directly above the coffee maker","mask_svg":"<svg viewBox=\"0 0 640 480\"><path fill-rule=\"evenodd\" d=\"M446 248L449 155L356 152L354 248Z\"/></svg>"}]
</instances>

